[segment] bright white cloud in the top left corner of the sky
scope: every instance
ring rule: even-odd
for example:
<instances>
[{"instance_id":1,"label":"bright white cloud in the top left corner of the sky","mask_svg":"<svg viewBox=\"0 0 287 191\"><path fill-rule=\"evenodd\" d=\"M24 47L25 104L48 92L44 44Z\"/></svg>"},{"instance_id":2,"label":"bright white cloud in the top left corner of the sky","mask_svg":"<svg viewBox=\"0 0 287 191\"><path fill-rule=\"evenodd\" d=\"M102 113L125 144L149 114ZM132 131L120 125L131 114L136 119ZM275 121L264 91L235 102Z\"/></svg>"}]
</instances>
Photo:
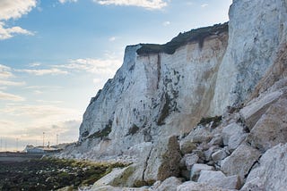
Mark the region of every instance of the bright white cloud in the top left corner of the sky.
<instances>
[{"instance_id":1,"label":"bright white cloud in the top left corner of the sky","mask_svg":"<svg viewBox=\"0 0 287 191\"><path fill-rule=\"evenodd\" d=\"M36 0L1 0L0 2L0 40L8 39L16 34L34 35L33 32L19 26L5 27L4 21L19 19L27 14L37 4Z\"/></svg>"}]
</instances>

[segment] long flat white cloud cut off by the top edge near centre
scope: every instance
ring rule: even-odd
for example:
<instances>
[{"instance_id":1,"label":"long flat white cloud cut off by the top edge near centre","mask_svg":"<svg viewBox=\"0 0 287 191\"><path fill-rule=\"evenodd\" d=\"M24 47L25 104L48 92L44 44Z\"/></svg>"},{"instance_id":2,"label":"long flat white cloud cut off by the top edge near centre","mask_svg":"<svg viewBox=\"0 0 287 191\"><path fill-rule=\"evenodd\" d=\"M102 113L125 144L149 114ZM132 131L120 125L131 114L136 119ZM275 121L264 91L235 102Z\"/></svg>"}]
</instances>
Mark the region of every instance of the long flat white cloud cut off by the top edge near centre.
<instances>
[{"instance_id":1,"label":"long flat white cloud cut off by the top edge near centre","mask_svg":"<svg viewBox=\"0 0 287 191\"><path fill-rule=\"evenodd\" d=\"M163 0L93 0L93 2L105 5L139 6L150 10L162 9L168 5Z\"/></svg>"}]
</instances>

